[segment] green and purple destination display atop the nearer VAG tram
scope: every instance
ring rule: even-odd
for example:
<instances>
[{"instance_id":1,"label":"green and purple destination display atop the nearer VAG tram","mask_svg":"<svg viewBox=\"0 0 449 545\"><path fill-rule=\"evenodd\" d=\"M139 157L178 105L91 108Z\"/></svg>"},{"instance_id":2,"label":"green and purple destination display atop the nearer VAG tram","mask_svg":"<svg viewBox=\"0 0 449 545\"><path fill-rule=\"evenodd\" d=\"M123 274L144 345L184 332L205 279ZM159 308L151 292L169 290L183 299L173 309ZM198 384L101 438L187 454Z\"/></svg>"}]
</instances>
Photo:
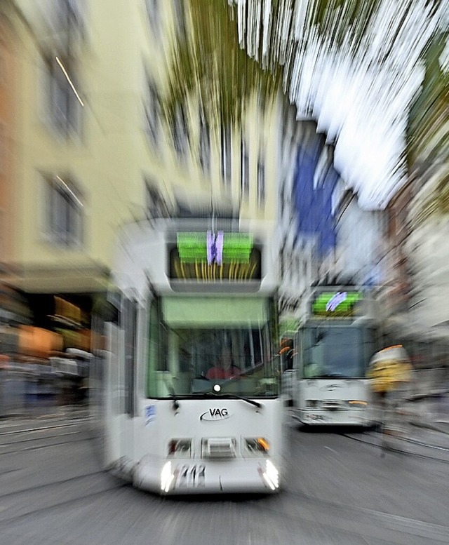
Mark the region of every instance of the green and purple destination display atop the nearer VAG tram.
<instances>
[{"instance_id":1,"label":"green and purple destination display atop the nearer VAG tram","mask_svg":"<svg viewBox=\"0 0 449 545\"><path fill-rule=\"evenodd\" d=\"M245 233L177 233L168 248L171 280L245 282L261 279L261 250Z\"/></svg>"}]
</instances>

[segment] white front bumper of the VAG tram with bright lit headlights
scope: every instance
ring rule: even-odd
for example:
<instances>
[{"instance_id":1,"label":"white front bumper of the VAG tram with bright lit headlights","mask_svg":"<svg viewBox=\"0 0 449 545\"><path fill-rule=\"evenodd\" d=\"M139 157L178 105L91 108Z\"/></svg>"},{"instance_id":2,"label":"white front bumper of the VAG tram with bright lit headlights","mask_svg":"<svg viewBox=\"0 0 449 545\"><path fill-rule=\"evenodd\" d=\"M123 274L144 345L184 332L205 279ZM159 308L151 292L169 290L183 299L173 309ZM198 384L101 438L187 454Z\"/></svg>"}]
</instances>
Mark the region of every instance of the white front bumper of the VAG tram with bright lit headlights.
<instances>
[{"instance_id":1,"label":"white front bumper of the VAG tram with bright lit headlights","mask_svg":"<svg viewBox=\"0 0 449 545\"><path fill-rule=\"evenodd\" d=\"M279 470L271 459L141 463L135 477L138 487L164 495L279 492Z\"/></svg>"}]
</instances>

